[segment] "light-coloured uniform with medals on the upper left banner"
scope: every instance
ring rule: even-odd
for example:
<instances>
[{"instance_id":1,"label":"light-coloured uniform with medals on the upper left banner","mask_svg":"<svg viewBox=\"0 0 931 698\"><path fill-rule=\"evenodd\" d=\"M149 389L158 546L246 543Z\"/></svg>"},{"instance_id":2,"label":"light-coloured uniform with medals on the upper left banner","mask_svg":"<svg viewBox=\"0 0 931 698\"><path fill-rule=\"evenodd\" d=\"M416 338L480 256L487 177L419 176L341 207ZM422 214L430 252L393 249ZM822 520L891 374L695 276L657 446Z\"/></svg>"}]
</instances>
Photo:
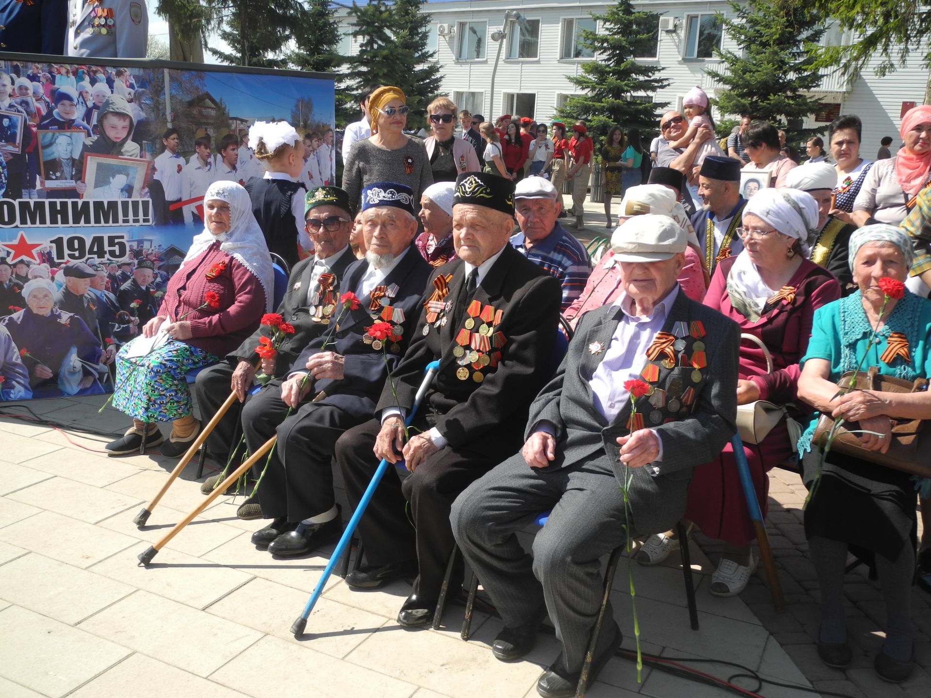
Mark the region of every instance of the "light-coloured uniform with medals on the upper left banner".
<instances>
[{"instance_id":1,"label":"light-coloured uniform with medals on the upper left banner","mask_svg":"<svg viewBox=\"0 0 931 698\"><path fill-rule=\"evenodd\" d=\"M69 0L66 56L145 58L148 37L144 0Z\"/></svg>"}]
</instances>

